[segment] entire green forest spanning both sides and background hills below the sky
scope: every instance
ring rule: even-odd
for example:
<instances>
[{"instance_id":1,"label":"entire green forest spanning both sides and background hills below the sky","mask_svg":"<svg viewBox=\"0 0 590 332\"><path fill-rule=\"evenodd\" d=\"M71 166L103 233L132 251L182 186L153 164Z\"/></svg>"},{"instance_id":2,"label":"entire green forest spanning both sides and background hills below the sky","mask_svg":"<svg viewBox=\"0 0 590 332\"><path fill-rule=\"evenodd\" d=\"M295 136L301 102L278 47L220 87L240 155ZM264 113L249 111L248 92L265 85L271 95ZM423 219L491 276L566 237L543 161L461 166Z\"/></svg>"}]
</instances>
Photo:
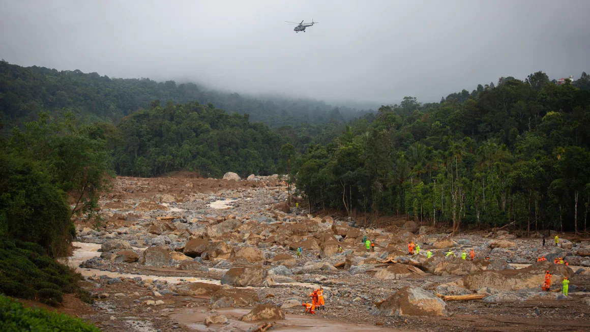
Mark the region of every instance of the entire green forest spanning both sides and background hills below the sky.
<instances>
[{"instance_id":1,"label":"entire green forest spanning both sides and background hills below the sky","mask_svg":"<svg viewBox=\"0 0 590 332\"><path fill-rule=\"evenodd\" d=\"M227 109L214 106L204 99L207 93L191 87L3 62L0 105L11 134L2 139L2 178L8 180L0 183L6 188L0 230L57 250L52 239L67 237L67 223L36 235L7 220L32 220L34 213L63 220L67 213L91 211L93 195L107 189L114 174L149 177L175 170L212 177L229 171L242 177L288 174L312 212L363 211L372 220L408 215L431 225L448 223L455 231L507 224L529 232L586 229L585 73L565 84L541 71L524 81L501 77L439 103L405 97L348 120L334 109L324 113L329 120L315 123L298 122L288 111L272 111L262 123L227 98L220 101ZM54 104L58 91L68 97ZM90 106L93 100L100 103ZM274 116L282 120L273 122ZM40 188L19 191L23 173ZM84 183L91 183L84 188L93 195L80 193ZM27 199L34 203L42 190L55 202L78 190L79 210L62 211L60 203L27 211Z\"/></svg>"}]
</instances>

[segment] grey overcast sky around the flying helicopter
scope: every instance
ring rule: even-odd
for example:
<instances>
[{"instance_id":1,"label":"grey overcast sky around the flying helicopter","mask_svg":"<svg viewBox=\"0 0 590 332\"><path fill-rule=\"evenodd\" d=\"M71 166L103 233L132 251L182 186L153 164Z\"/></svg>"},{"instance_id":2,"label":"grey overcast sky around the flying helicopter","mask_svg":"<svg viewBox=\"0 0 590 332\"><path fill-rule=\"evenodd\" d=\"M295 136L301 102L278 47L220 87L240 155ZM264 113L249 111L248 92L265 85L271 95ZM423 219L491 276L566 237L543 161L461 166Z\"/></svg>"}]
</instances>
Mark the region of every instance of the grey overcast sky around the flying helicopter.
<instances>
[{"instance_id":1,"label":"grey overcast sky around the flying helicopter","mask_svg":"<svg viewBox=\"0 0 590 332\"><path fill-rule=\"evenodd\" d=\"M590 71L590 1L0 0L0 58L326 101ZM284 21L319 24L296 33Z\"/></svg>"}]
</instances>

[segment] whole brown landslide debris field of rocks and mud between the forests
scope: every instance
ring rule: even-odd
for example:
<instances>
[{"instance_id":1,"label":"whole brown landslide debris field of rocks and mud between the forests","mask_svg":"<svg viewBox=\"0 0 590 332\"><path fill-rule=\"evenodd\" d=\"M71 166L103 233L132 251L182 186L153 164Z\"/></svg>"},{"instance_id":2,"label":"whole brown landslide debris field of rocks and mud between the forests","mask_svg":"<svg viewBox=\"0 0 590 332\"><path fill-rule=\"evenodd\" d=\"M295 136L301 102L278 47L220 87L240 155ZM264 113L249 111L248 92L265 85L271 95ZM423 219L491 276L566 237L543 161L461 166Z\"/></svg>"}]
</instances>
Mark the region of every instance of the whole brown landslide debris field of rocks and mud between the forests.
<instances>
[{"instance_id":1,"label":"whole brown landslide debris field of rocks and mud between the forests","mask_svg":"<svg viewBox=\"0 0 590 332\"><path fill-rule=\"evenodd\" d=\"M413 221L365 229L289 207L276 176L226 177L117 177L100 200L106 226L78 220L69 259L95 302L66 301L65 311L103 331L590 331L588 239L451 238ZM419 254L408 254L410 241ZM471 248L476 259L461 259ZM552 291L543 292L548 269ZM303 314L319 287L326 311Z\"/></svg>"}]
</instances>

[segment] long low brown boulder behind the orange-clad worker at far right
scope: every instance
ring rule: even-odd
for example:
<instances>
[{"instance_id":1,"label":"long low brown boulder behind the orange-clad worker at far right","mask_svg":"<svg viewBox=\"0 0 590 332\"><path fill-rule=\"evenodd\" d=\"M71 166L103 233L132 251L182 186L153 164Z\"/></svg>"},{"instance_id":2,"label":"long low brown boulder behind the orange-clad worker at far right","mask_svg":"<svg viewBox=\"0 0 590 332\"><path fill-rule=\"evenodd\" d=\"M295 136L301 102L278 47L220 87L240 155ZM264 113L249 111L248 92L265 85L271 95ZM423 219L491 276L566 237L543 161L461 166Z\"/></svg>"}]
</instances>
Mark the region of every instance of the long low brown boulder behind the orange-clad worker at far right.
<instances>
[{"instance_id":1,"label":"long low brown boulder behind the orange-clad worker at far right","mask_svg":"<svg viewBox=\"0 0 590 332\"><path fill-rule=\"evenodd\" d=\"M502 291L517 291L526 288L538 288L545 280L545 271L553 275L553 285L559 285L563 277L571 278L573 271L563 264L550 262L536 262L527 268L503 269L500 271L478 271L463 277L459 281L464 288L478 290L480 288L495 288Z\"/></svg>"}]
</instances>

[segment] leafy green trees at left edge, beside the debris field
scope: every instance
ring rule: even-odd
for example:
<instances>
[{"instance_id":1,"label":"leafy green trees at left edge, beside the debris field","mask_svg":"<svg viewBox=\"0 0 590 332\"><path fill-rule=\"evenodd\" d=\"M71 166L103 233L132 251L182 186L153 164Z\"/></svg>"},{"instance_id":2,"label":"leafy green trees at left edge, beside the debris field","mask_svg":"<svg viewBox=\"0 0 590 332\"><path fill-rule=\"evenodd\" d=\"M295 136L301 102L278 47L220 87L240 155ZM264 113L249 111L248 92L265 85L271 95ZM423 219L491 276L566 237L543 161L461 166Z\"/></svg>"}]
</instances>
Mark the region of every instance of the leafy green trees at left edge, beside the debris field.
<instances>
[{"instance_id":1,"label":"leafy green trees at left edge, beside the debris field","mask_svg":"<svg viewBox=\"0 0 590 332\"><path fill-rule=\"evenodd\" d=\"M92 216L114 174L97 130L77 126L71 113L54 120L41 113L0 140L0 237L65 255L75 235L71 216Z\"/></svg>"}]
</instances>

